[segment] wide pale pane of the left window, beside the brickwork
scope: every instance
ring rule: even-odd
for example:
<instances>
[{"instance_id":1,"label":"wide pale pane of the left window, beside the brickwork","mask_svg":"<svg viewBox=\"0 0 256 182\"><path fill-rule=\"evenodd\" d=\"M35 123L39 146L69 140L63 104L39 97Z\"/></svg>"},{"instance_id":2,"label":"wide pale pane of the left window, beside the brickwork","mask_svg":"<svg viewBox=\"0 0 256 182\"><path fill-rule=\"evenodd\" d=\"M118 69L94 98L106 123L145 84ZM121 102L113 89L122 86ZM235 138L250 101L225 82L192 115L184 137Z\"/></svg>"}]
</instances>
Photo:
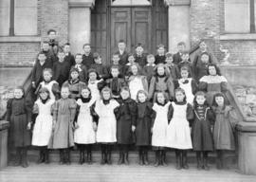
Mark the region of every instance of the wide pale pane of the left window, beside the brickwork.
<instances>
[{"instance_id":1,"label":"wide pale pane of the left window, beside the brickwork","mask_svg":"<svg viewBox=\"0 0 256 182\"><path fill-rule=\"evenodd\" d=\"M37 35L37 0L15 0L14 34Z\"/></svg>"}]
</instances>

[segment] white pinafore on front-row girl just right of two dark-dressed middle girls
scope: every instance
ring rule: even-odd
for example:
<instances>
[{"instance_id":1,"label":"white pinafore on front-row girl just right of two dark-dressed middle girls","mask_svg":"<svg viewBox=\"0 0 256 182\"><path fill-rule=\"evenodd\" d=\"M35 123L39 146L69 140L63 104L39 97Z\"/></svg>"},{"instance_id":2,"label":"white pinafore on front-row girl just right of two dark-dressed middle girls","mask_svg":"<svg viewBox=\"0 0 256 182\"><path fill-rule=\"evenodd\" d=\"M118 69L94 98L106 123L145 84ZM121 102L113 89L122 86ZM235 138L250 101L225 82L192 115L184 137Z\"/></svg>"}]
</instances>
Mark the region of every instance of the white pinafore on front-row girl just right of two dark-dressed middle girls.
<instances>
[{"instance_id":1,"label":"white pinafore on front-row girl just right of two dark-dressed middle girls","mask_svg":"<svg viewBox=\"0 0 256 182\"><path fill-rule=\"evenodd\" d=\"M166 146L166 130L168 126L168 111L171 102L168 101L165 105L158 105L154 103L153 110L156 113L155 122L152 134L152 146L165 147Z\"/></svg>"}]
</instances>

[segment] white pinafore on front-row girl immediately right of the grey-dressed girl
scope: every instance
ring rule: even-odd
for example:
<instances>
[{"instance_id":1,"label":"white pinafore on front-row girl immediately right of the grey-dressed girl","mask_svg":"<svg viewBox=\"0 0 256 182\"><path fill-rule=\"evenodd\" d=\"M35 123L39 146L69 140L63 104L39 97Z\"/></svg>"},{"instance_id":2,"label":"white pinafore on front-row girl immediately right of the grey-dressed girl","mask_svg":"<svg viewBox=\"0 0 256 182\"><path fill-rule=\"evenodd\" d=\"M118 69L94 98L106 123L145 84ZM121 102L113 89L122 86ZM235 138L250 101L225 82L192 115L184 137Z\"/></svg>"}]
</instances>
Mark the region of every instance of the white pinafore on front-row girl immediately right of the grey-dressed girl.
<instances>
[{"instance_id":1,"label":"white pinafore on front-row girl immediately right of the grey-dressed girl","mask_svg":"<svg viewBox=\"0 0 256 182\"><path fill-rule=\"evenodd\" d=\"M77 120L78 128L74 133L74 142L79 144L92 144L96 142L96 133L93 130L93 118L90 112L90 106L94 100L83 103L81 99L77 100L80 105L79 116Z\"/></svg>"}]
</instances>

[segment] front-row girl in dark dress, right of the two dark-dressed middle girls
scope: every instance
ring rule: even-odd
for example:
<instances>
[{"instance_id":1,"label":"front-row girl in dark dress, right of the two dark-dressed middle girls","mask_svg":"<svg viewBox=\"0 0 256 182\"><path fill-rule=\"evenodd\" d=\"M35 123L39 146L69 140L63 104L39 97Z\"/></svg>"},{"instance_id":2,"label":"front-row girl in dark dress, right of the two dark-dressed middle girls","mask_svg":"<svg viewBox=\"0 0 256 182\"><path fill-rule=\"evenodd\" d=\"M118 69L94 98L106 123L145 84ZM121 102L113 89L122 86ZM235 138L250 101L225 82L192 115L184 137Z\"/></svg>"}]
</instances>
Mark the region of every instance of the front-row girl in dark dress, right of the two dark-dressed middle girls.
<instances>
[{"instance_id":1,"label":"front-row girl in dark dress, right of the two dark-dressed middle girls","mask_svg":"<svg viewBox=\"0 0 256 182\"><path fill-rule=\"evenodd\" d=\"M148 165L148 150L151 145L151 125L155 112L152 103L147 100L147 92L137 92L137 119L133 132L136 133L139 165Z\"/></svg>"}]
</instances>

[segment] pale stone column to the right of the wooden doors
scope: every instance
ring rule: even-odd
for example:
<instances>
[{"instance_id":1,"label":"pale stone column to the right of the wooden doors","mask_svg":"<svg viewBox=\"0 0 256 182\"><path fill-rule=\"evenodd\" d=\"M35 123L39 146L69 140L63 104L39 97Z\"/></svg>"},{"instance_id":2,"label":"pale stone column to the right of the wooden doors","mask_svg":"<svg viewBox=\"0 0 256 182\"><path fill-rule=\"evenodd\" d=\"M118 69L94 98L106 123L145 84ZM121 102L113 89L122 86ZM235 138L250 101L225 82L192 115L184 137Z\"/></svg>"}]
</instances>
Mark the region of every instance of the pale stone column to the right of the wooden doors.
<instances>
[{"instance_id":1,"label":"pale stone column to the right of the wooden doors","mask_svg":"<svg viewBox=\"0 0 256 182\"><path fill-rule=\"evenodd\" d=\"M169 51L176 52L176 45L185 42L190 49L190 0L165 0L168 6Z\"/></svg>"}]
</instances>

